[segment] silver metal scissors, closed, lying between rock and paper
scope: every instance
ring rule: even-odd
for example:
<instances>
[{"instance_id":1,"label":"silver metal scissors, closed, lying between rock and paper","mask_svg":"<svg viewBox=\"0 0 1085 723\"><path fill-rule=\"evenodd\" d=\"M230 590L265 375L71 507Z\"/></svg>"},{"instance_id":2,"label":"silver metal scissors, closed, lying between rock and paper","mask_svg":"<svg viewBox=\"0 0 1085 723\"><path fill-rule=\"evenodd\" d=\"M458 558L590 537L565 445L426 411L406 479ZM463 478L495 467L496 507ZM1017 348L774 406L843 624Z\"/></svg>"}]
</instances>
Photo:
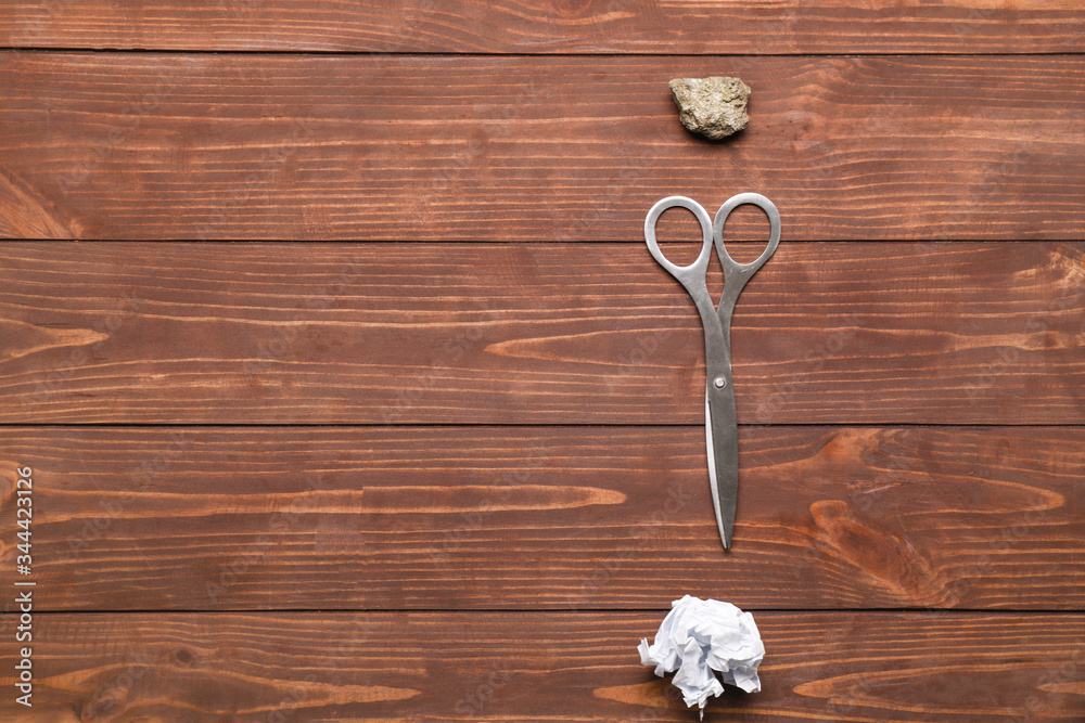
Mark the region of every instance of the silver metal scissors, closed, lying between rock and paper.
<instances>
[{"instance_id":1,"label":"silver metal scissors, closed, lying between rock and paper","mask_svg":"<svg viewBox=\"0 0 1085 723\"><path fill-rule=\"evenodd\" d=\"M751 204L768 216L768 246L753 263L737 263L724 246L724 223L731 211ZM685 208L693 212L701 224L704 243L701 253L689 266L676 266L668 261L655 238L655 224L663 211ZM773 255L780 243L780 211L771 201L760 193L740 193L731 196L716 211L716 218L709 220L709 214L701 204L686 196L667 196L648 211L644 219L644 241L648 250L660 266L678 280L697 305L704 327L704 363L707 373L704 385L704 437L707 444L709 483L712 486L712 504L716 508L716 525L724 548L731 546L735 530L735 501L739 485L739 440L738 417L735 413L735 388L731 384L731 313L735 302L746 282ZM714 307L709 296L705 277L709 273L709 257L715 243L716 255L724 267L724 292L719 306Z\"/></svg>"}]
</instances>

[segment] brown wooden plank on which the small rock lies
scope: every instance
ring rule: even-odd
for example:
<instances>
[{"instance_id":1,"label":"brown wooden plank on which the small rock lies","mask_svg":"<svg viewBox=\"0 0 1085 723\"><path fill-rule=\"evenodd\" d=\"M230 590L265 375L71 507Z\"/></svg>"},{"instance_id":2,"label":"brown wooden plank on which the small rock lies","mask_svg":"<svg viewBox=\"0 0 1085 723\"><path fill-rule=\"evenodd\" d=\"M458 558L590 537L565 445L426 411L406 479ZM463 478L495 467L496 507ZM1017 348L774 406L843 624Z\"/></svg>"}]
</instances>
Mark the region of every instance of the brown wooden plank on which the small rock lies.
<instances>
[{"instance_id":1,"label":"brown wooden plank on which the small rock lies","mask_svg":"<svg viewBox=\"0 0 1085 723\"><path fill-rule=\"evenodd\" d=\"M1085 235L1085 59L4 53L0 235L611 240L669 194L784 238ZM740 74L750 128L678 122ZM751 212L736 237L764 233Z\"/></svg>"}]
</instances>

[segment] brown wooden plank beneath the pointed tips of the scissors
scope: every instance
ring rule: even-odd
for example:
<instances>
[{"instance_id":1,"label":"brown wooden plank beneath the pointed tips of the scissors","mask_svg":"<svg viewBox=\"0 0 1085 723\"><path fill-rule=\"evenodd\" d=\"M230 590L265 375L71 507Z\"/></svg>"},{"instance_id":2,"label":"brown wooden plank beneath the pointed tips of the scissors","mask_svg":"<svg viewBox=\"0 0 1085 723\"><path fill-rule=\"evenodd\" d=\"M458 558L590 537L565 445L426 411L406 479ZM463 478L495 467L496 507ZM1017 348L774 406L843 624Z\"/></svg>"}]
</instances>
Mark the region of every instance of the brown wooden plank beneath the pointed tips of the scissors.
<instances>
[{"instance_id":1,"label":"brown wooden plank beneath the pointed tips of the scissors","mask_svg":"<svg viewBox=\"0 0 1085 723\"><path fill-rule=\"evenodd\" d=\"M1082 428L744 428L729 552L698 427L8 427L0 449L33 472L41 610L1085 607Z\"/></svg>"}]
</instances>

